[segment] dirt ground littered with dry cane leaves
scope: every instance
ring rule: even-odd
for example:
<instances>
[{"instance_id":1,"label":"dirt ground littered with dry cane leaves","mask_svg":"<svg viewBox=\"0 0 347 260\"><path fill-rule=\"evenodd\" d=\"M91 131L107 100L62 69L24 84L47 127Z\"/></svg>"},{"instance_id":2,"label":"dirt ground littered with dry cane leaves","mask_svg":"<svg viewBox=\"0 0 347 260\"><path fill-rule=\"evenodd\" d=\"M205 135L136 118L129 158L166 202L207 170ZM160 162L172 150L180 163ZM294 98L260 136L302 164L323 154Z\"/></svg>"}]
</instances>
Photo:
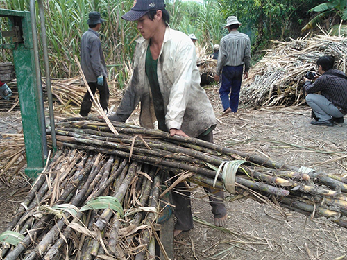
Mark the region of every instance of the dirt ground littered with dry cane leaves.
<instances>
[{"instance_id":1,"label":"dirt ground littered with dry cane leaves","mask_svg":"<svg viewBox=\"0 0 347 260\"><path fill-rule=\"evenodd\" d=\"M221 117L216 87L206 89L218 118L214 141L278 162L307 166L325 173L347 175L347 123L334 127L310 125L309 107L272 107ZM20 128L19 112L0 113L0 133ZM0 138L1 137L0 135ZM24 198L24 183L0 183L0 231ZM212 223L203 192L193 193L194 217ZM183 232L175 241L177 260L184 259L347 259L347 229L326 218L276 209L251 199L226 202L228 225L219 230L205 223Z\"/></svg>"}]
</instances>

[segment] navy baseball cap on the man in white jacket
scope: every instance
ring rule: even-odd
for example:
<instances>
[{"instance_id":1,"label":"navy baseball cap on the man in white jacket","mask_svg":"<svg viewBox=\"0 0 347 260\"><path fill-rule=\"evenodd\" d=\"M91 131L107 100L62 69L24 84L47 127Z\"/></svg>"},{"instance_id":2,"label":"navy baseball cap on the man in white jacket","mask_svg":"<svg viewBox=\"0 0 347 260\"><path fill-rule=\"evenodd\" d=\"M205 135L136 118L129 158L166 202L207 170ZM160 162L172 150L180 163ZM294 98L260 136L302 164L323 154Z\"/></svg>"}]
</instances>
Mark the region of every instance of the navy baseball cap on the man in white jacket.
<instances>
[{"instance_id":1,"label":"navy baseball cap on the man in white jacket","mask_svg":"<svg viewBox=\"0 0 347 260\"><path fill-rule=\"evenodd\" d=\"M126 21L136 21L151 10L160 10L164 8L164 0L135 0L133 8L125 15L122 15L121 18Z\"/></svg>"}]
</instances>

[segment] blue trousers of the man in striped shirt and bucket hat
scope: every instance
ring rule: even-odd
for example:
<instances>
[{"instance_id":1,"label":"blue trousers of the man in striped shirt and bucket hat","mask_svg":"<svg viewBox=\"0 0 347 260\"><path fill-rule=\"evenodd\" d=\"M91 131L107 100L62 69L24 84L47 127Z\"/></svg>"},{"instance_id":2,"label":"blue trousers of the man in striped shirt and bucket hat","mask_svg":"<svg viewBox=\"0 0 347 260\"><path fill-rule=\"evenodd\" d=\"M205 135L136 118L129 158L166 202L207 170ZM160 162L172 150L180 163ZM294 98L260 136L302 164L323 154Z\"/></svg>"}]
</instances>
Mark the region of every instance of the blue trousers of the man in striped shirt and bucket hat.
<instances>
[{"instance_id":1,"label":"blue trousers of the man in striped shirt and bucket hat","mask_svg":"<svg viewBox=\"0 0 347 260\"><path fill-rule=\"evenodd\" d=\"M243 65L237 67L223 67L219 96L221 97L221 104L223 105L224 111L230 107L231 112L237 112L237 108L239 107L239 91L241 89L243 70Z\"/></svg>"}]
</instances>

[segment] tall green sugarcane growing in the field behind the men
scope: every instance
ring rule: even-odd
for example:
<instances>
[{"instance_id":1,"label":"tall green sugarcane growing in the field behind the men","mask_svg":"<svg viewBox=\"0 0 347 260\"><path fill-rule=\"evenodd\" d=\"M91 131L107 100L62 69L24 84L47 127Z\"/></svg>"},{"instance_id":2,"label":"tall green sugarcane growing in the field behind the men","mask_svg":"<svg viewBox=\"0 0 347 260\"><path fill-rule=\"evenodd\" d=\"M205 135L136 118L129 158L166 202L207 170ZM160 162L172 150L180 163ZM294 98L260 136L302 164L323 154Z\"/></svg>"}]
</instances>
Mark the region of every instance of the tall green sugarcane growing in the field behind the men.
<instances>
[{"instance_id":1,"label":"tall green sugarcane growing in the field behind the men","mask_svg":"<svg viewBox=\"0 0 347 260\"><path fill-rule=\"evenodd\" d=\"M1 1L0 8L28 11L29 3L28 0L5 0ZM130 73L128 68L133 58L135 40L140 36L136 21L121 19L121 15L133 6L133 1L49 0L43 3L51 77L71 78L78 75L74 58L80 56L81 37L88 29L88 13L98 11L105 19L99 34L108 64L108 78L123 87ZM226 19L221 16L221 6L217 1L165 3L171 15L171 28L187 34L194 33L199 39L198 46L212 51L213 44L218 44L221 37L226 35L227 31L223 28ZM37 29L40 30L38 10L36 14ZM6 18L1 19L1 26L6 27ZM6 55L10 55L10 52L6 52Z\"/></svg>"}]
</instances>

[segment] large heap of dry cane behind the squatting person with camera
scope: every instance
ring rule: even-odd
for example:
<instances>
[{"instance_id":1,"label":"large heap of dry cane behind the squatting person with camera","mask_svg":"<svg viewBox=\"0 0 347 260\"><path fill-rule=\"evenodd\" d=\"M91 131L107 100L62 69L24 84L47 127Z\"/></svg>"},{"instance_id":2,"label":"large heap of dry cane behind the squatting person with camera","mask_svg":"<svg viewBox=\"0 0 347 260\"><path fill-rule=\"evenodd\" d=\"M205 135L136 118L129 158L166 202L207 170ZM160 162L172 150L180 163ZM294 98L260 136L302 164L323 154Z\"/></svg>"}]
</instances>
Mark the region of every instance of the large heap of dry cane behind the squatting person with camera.
<instances>
[{"instance_id":1,"label":"large heap of dry cane behind the squatting person with camera","mask_svg":"<svg viewBox=\"0 0 347 260\"><path fill-rule=\"evenodd\" d=\"M335 58L335 67L346 72L347 39L329 35L274 42L273 49L250 70L243 81L240 103L252 106L301 105L303 76L314 71L323 55Z\"/></svg>"}]
</instances>

